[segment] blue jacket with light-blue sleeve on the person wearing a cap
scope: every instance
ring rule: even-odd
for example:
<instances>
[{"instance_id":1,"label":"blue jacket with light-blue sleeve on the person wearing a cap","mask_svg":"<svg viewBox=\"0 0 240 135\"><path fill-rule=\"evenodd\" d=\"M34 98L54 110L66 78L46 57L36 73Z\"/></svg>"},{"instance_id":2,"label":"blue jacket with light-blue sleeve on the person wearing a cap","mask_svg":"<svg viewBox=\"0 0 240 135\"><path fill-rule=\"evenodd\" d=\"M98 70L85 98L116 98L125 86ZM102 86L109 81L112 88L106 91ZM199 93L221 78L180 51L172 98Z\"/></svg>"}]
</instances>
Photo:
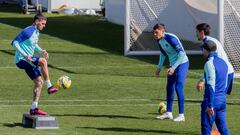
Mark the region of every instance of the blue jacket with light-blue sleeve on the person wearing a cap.
<instances>
[{"instance_id":1,"label":"blue jacket with light-blue sleeve on the person wearing a cap","mask_svg":"<svg viewBox=\"0 0 240 135\"><path fill-rule=\"evenodd\" d=\"M204 101L207 107L212 108L214 103L226 100L225 87L228 77L228 66L225 61L210 53L204 66L205 93Z\"/></svg>"}]
</instances>

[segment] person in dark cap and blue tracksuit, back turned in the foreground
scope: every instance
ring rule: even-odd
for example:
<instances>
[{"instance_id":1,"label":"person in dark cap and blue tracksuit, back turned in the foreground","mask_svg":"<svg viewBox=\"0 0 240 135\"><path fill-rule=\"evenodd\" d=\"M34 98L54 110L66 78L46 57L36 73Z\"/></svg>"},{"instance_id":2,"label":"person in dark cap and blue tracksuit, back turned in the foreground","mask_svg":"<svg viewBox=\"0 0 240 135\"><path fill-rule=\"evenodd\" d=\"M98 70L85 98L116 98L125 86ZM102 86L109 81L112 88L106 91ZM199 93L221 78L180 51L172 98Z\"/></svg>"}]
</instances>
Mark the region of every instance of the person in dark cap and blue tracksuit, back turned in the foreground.
<instances>
[{"instance_id":1,"label":"person in dark cap and blue tracksuit, back turned in the foreground","mask_svg":"<svg viewBox=\"0 0 240 135\"><path fill-rule=\"evenodd\" d=\"M211 135L215 122L221 135L229 135L226 124L226 85L228 65L217 53L217 45L209 40L203 45L205 92L201 105L202 135Z\"/></svg>"}]
</instances>

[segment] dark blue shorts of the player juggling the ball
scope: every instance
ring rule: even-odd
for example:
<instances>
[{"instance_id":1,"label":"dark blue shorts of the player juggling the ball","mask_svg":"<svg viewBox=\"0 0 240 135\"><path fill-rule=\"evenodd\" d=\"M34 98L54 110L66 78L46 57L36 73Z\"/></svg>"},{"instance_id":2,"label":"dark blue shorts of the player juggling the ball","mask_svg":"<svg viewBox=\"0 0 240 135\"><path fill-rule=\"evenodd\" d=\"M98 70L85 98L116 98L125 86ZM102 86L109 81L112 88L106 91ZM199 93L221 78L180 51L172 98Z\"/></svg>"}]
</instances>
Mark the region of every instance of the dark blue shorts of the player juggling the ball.
<instances>
[{"instance_id":1,"label":"dark blue shorts of the player juggling the ball","mask_svg":"<svg viewBox=\"0 0 240 135\"><path fill-rule=\"evenodd\" d=\"M40 69L38 67L39 57L33 56L33 62L20 60L16 63L17 67L20 69L24 69L27 75L32 79L36 79L37 77L41 76Z\"/></svg>"}]
</instances>

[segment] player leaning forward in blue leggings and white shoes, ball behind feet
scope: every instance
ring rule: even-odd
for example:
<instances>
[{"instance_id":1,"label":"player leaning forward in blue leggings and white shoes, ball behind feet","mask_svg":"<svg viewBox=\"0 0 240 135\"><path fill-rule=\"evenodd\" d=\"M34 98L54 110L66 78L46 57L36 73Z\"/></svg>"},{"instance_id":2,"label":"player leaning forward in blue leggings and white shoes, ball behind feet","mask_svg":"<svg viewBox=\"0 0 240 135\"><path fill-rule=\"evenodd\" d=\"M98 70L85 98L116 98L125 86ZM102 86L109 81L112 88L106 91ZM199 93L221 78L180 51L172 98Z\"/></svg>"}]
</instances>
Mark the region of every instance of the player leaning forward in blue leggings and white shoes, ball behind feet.
<instances>
[{"instance_id":1,"label":"player leaning forward in blue leggings and white shoes, ball behind feet","mask_svg":"<svg viewBox=\"0 0 240 135\"><path fill-rule=\"evenodd\" d=\"M153 34L154 38L158 41L160 48L160 58L156 70L156 76L159 77L166 57L168 57L170 63L167 70L167 112L163 115L157 116L157 119L173 119L172 105L174 100L174 90L176 90L178 96L179 116L175 118L174 121L185 121L183 88L189 67L188 57L177 36L165 32L164 24L156 24L153 27Z\"/></svg>"}]
</instances>

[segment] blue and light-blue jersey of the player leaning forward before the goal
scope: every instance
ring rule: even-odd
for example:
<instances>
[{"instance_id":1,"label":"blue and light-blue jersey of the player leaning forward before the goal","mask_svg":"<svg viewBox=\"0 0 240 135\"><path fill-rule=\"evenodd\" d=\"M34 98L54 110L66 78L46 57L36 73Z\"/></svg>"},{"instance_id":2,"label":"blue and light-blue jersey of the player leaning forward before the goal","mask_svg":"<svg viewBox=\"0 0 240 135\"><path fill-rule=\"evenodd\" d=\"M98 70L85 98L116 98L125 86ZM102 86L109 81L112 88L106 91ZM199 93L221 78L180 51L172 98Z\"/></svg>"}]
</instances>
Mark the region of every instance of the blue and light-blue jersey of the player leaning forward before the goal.
<instances>
[{"instance_id":1,"label":"blue and light-blue jersey of the player leaning forward before the goal","mask_svg":"<svg viewBox=\"0 0 240 135\"><path fill-rule=\"evenodd\" d=\"M161 52L157 68L162 68L166 56L168 56L170 66L174 70L180 64L188 62L188 57L176 35L165 33L164 37L158 41L158 44Z\"/></svg>"}]
</instances>

